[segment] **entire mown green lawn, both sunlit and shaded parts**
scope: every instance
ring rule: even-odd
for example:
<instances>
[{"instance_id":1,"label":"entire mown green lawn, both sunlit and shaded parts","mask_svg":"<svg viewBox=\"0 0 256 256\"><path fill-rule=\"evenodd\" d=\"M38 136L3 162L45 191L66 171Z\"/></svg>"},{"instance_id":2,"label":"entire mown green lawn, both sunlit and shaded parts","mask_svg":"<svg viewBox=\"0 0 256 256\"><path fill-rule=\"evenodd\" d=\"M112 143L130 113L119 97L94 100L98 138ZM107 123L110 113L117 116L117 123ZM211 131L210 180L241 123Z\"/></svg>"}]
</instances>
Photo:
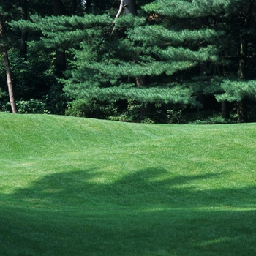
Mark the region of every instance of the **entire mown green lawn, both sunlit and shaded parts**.
<instances>
[{"instance_id":1,"label":"entire mown green lawn, both sunlit and shaded parts","mask_svg":"<svg viewBox=\"0 0 256 256\"><path fill-rule=\"evenodd\" d=\"M0 113L0 255L256 255L256 125Z\"/></svg>"}]
</instances>

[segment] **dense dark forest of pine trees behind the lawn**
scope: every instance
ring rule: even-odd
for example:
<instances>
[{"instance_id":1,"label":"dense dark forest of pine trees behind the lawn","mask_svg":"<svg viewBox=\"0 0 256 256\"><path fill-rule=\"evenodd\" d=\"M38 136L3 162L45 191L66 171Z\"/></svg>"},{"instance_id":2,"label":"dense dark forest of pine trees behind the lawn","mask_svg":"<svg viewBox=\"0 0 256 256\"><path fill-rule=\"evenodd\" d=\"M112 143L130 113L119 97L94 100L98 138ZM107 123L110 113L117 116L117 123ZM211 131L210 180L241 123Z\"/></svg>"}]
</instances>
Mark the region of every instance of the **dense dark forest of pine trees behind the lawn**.
<instances>
[{"instance_id":1,"label":"dense dark forest of pine trees behind the lawn","mask_svg":"<svg viewBox=\"0 0 256 256\"><path fill-rule=\"evenodd\" d=\"M256 0L0 1L0 110L256 121Z\"/></svg>"}]
</instances>

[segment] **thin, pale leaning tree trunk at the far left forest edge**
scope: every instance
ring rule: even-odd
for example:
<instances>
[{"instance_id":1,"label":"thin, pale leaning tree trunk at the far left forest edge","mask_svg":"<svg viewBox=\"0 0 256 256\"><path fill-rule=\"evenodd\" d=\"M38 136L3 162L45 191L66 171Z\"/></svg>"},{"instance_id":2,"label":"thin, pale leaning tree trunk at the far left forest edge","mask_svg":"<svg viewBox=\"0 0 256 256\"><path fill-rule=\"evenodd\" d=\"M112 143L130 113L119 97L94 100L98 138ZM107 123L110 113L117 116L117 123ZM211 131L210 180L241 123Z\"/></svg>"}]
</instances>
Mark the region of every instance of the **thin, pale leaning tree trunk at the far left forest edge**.
<instances>
[{"instance_id":1,"label":"thin, pale leaning tree trunk at the far left forest edge","mask_svg":"<svg viewBox=\"0 0 256 256\"><path fill-rule=\"evenodd\" d=\"M3 28L3 23L1 20L0 16L0 36L3 37L4 35L4 28ZM4 42L1 42L1 50L3 53L4 57L4 66L7 74L7 86L8 86L8 92L9 92L9 98L10 98L10 105L12 108L12 113L17 113L17 108L15 104L15 99L14 99L14 93L13 93L13 83L12 83L12 72L11 72L11 66L10 66L10 61L7 53L7 48L4 45Z\"/></svg>"}]
</instances>

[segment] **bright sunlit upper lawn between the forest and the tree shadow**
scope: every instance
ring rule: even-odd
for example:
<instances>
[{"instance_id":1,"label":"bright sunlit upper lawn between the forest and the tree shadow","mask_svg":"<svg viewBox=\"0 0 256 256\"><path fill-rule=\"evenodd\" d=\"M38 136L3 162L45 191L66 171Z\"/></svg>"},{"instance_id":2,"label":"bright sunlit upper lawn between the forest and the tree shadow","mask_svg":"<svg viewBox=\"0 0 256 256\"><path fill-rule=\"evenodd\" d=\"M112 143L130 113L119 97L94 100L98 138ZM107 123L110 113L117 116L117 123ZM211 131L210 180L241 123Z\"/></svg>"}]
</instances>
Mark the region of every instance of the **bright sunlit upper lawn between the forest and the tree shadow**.
<instances>
[{"instance_id":1,"label":"bright sunlit upper lawn between the forest and the tree shadow","mask_svg":"<svg viewBox=\"0 0 256 256\"><path fill-rule=\"evenodd\" d=\"M131 124L0 113L1 173L16 173L8 175L15 179L91 168L111 182L114 176L157 169L181 179L221 174L226 179L217 187L241 188L255 185L255 138L255 124ZM32 180L22 185L20 178L17 184L29 186Z\"/></svg>"}]
</instances>

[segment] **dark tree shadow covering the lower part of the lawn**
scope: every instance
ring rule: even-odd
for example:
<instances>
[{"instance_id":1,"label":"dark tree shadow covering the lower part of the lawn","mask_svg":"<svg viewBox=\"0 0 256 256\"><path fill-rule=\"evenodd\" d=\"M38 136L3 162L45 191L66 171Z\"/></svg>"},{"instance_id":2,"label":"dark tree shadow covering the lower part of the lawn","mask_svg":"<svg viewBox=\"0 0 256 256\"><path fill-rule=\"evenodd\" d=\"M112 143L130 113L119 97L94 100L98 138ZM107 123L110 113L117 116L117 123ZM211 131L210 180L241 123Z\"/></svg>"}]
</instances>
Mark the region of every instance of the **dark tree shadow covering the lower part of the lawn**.
<instances>
[{"instance_id":1,"label":"dark tree shadow covering the lower part of the lawn","mask_svg":"<svg viewBox=\"0 0 256 256\"><path fill-rule=\"evenodd\" d=\"M255 187L196 185L224 174L44 176L0 195L0 255L255 255Z\"/></svg>"}]
</instances>

